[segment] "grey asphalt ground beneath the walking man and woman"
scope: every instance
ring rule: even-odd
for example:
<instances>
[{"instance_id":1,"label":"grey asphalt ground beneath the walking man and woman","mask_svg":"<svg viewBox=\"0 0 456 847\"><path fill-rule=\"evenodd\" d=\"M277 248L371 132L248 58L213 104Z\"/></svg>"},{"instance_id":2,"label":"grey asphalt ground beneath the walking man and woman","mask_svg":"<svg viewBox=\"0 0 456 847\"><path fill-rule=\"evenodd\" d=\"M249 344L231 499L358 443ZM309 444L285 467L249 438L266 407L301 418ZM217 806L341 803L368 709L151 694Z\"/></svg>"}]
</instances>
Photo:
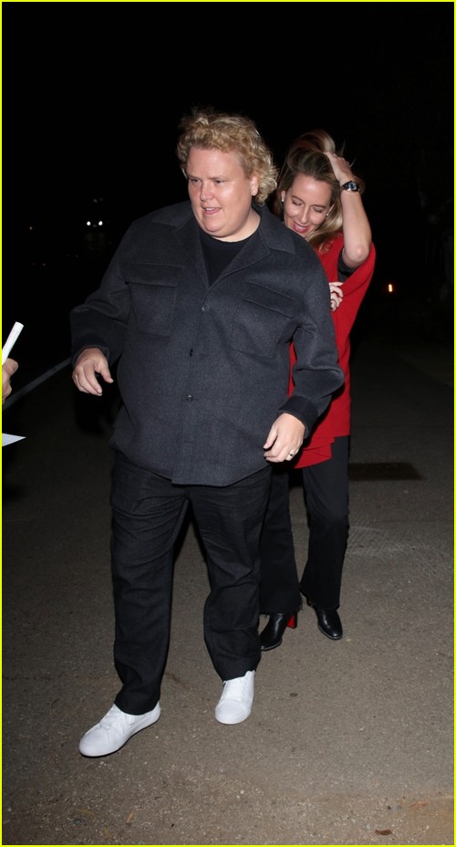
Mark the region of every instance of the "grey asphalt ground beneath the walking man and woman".
<instances>
[{"instance_id":1,"label":"grey asphalt ground beneath the walking man and woman","mask_svg":"<svg viewBox=\"0 0 456 847\"><path fill-rule=\"evenodd\" d=\"M3 449L3 844L454 843L452 356L363 340L352 372L344 638L301 612L264 654L249 719L217 723L190 522L161 718L104 758L78 740L119 688L117 401L79 395L63 368L6 407L4 432L26 439ZM291 501L302 566L297 481Z\"/></svg>"}]
</instances>

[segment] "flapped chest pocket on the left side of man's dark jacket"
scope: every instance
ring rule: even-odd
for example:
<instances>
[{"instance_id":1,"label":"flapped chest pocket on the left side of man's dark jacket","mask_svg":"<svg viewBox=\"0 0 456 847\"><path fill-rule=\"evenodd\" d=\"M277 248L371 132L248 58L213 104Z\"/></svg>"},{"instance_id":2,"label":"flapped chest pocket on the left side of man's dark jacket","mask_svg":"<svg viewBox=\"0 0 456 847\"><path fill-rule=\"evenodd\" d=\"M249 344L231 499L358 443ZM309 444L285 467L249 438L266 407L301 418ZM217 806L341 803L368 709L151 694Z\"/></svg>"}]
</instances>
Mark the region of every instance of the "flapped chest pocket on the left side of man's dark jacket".
<instances>
[{"instance_id":1,"label":"flapped chest pocket on the left side of man's dark jacket","mask_svg":"<svg viewBox=\"0 0 456 847\"><path fill-rule=\"evenodd\" d=\"M131 308L137 328L150 335L171 333L181 267L132 265L128 271Z\"/></svg>"}]
</instances>

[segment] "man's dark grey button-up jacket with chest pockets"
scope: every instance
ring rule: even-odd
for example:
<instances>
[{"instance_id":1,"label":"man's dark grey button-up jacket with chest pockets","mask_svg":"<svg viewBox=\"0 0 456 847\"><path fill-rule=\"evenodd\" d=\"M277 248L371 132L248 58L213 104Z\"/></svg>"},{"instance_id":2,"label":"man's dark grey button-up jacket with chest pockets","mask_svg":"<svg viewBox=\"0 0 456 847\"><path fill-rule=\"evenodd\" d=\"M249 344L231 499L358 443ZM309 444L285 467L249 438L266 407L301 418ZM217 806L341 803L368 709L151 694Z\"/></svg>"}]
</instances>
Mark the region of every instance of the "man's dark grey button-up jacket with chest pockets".
<instances>
[{"instance_id":1,"label":"man's dark grey button-up jacket with chest pockets","mask_svg":"<svg viewBox=\"0 0 456 847\"><path fill-rule=\"evenodd\" d=\"M294 414L308 435L344 379L319 259L266 207L256 211L256 234L212 286L190 203L141 217L70 315L73 361L87 347L119 359L110 444L176 484L254 474L268 464L277 415Z\"/></svg>"}]
</instances>

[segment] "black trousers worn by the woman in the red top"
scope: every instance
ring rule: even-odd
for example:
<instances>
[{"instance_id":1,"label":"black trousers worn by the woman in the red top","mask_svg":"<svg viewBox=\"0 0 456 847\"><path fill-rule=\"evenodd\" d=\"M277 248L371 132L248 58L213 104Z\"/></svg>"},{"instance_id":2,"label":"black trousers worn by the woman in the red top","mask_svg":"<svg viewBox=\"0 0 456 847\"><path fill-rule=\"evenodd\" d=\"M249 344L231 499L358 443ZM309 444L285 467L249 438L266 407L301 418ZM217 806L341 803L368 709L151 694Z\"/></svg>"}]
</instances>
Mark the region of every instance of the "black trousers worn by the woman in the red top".
<instances>
[{"instance_id":1,"label":"black trousers worn by the woman in the red top","mask_svg":"<svg viewBox=\"0 0 456 847\"><path fill-rule=\"evenodd\" d=\"M300 590L324 609L339 606L349 528L348 447L349 437L339 437L332 445L330 459L302 470L309 539L300 583L290 518L289 474L285 465L273 469L260 543L262 613L297 611Z\"/></svg>"}]
</instances>

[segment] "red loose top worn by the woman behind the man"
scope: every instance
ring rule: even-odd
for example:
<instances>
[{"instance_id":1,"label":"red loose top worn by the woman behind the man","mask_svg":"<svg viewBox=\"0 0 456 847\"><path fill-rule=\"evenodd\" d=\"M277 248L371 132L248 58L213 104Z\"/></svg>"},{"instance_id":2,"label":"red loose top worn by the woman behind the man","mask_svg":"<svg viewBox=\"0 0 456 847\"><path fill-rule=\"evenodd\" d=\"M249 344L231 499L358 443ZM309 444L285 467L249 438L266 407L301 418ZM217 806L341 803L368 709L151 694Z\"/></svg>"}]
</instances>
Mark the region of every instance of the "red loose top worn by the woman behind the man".
<instances>
[{"instance_id":1,"label":"red loose top worn by the woman behind the man","mask_svg":"<svg viewBox=\"0 0 456 847\"><path fill-rule=\"evenodd\" d=\"M323 267L326 270L328 282L337 282L337 261L344 246L342 234L336 235L327 253L318 252ZM366 261L347 277L343 285L344 298L340 306L332 312L336 329L336 343L339 365L344 371L345 382L333 394L333 399L314 428L310 439L304 443L303 449L297 456L293 467L317 465L331 458L331 444L338 435L350 434L350 332L358 314L358 308L368 290L375 267L376 251L374 245ZM291 368L295 364L295 350L290 347ZM290 371L290 393L293 391L293 377Z\"/></svg>"}]
</instances>

